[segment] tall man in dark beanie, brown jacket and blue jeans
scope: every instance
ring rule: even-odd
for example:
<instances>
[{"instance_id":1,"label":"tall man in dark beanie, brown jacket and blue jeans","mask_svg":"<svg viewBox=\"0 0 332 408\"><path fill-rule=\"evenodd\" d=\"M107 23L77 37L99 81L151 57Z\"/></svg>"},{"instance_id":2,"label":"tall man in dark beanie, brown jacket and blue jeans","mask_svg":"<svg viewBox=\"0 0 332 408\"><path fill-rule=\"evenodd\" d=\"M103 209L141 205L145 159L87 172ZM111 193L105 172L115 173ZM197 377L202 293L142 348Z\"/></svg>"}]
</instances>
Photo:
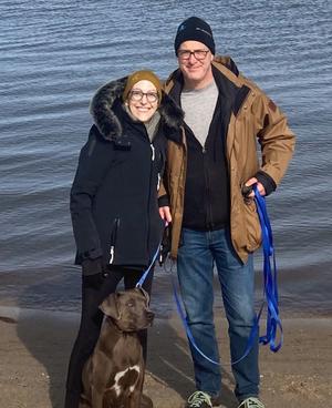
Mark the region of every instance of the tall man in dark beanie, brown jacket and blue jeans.
<instances>
[{"instance_id":1,"label":"tall man in dark beanie, brown jacket and blue jeans","mask_svg":"<svg viewBox=\"0 0 332 408\"><path fill-rule=\"evenodd\" d=\"M232 60L215 57L207 22L196 17L185 20L176 33L175 52L179 69L167 80L165 91L181 105L185 125L183 139L168 142L159 211L172 221L170 256L177 258L180 292L197 346L219 360L212 312L216 265L231 360L236 361L245 354L253 325L252 253L261 243L250 186L257 183L261 195L277 188L294 136L276 104L238 72ZM220 367L190 348L197 391L189 396L187 407L220 405ZM258 336L232 373L239 408L263 408Z\"/></svg>"}]
</instances>

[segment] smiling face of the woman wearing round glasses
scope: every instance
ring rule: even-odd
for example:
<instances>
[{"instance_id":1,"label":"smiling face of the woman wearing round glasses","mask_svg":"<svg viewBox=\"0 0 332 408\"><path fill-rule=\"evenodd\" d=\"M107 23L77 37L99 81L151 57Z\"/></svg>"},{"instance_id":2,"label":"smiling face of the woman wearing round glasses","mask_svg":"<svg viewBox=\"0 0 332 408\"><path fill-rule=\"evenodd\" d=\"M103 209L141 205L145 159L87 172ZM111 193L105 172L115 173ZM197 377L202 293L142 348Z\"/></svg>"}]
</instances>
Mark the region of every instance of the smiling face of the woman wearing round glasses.
<instances>
[{"instance_id":1,"label":"smiling face of the woman wearing round glasses","mask_svg":"<svg viewBox=\"0 0 332 408\"><path fill-rule=\"evenodd\" d=\"M127 104L132 114L141 122L147 122L158 109L156 86L146 80L136 82L128 93Z\"/></svg>"}]
</instances>

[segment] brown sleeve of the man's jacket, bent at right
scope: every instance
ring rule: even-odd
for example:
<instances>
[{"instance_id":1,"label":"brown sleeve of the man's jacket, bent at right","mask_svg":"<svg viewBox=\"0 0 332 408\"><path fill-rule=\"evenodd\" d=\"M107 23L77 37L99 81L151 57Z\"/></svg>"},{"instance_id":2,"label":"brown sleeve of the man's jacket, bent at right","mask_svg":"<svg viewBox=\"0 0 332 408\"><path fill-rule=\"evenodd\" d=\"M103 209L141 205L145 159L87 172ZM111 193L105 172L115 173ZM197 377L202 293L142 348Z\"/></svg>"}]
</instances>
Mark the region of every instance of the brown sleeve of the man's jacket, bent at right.
<instances>
[{"instance_id":1,"label":"brown sleeve of the man's jacket, bent at right","mask_svg":"<svg viewBox=\"0 0 332 408\"><path fill-rule=\"evenodd\" d=\"M262 154L260 172L266 173L278 185L292 157L295 137L286 115L262 92L252 109L258 122L257 129L260 130L257 134Z\"/></svg>"}]
</instances>

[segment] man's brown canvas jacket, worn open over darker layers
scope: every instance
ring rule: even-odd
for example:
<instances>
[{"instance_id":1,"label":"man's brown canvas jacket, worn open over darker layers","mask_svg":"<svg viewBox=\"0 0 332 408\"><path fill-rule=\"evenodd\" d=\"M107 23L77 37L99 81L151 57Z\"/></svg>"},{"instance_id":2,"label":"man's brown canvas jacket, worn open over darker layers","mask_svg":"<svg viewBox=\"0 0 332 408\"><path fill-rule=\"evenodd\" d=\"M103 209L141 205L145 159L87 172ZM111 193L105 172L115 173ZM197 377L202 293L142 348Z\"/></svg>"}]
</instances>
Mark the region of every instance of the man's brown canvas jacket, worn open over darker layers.
<instances>
[{"instance_id":1,"label":"man's brown canvas jacket, worn open over darker layers","mask_svg":"<svg viewBox=\"0 0 332 408\"><path fill-rule=\"evenodd\" d=\"M231 113L226 156L230 176L230 234L235 251L245 263L248 254L261 244L261 232L255 202L243 201L242 185L259 170L266 172L279 185L294 150L294 134L280 109L251 81L237 70L228 57L216 57L214 62L226 79L245 95L241 104ZM174 86L173 74L165 83L165 92ZM239 100L241 100L239 98ZM257 153L261 149L261 163ZM168 195L172 222L170 256L176 258L180 242L184 211L184 192L187 169L186 136L181 143L168 141L167 166L159 196Z\"/></svg>"}]
</instances>

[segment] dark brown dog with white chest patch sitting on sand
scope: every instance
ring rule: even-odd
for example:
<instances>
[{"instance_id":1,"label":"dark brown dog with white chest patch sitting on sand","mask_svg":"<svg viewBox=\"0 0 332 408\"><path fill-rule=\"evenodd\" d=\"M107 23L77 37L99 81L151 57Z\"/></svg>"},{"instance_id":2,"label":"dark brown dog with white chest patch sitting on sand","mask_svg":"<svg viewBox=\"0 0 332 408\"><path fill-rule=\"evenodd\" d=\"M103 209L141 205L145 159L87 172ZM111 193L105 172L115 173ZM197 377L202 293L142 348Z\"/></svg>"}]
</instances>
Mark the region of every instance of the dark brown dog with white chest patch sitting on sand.
<instances>
[{"instance_id":1,"label":"dark brown dog with white chest patch sitting on sand","mask_svg":"<svg viewBox=\"0 0 332 408\"><path fill-rule=\"evenodd\" d=\"M148 294L134 288L111 294L100 306L101 334L82 374L80 408L152 408L142 397L144 369L137 332L152 325Z\"/></svg>"}]
</instances>

